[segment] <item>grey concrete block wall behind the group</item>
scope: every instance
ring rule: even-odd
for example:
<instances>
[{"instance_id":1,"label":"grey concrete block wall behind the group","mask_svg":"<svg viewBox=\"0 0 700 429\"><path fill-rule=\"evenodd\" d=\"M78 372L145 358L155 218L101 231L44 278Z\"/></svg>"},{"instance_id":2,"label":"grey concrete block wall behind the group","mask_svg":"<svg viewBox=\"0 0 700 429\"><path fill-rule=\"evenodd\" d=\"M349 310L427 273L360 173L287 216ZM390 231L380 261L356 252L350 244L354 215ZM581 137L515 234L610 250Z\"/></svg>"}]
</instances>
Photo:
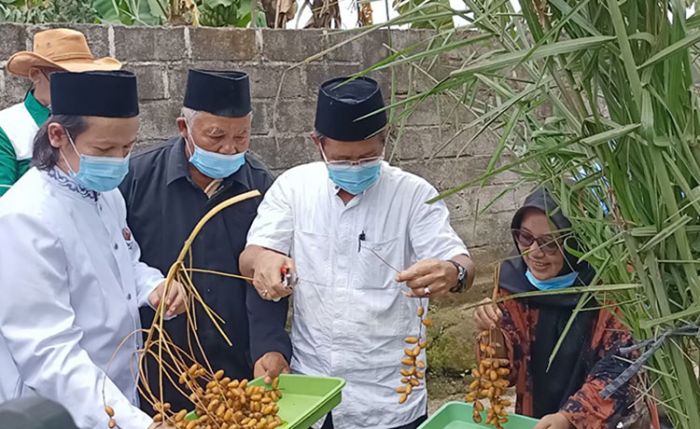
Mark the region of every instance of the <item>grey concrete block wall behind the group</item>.
<instances>
[{"instance_id":1,"label":"grey concrete block wall behind the group","mask_svg":"<svg viewBox=\"0 0 700 429\"><path fill-rule=\"evenodd\" d=\"M431 36L425 31L376 31L350 40L357 33L72 27L86 34L95 56L114 56L124 63L125 69L138 75L141 147L157 144L176 133L174 121L181 108L188 68L248 72L254 102L251 149L275 173L318 159L308 135L313 127L316 94L321 82L363 70L390 52L414 46ZM5 61L16 51L31 49L33 34L45 28L0 24L0 108L19 102L29 87L28 81L7 73ZM348 40L324 56L307 61ZM460 58L463 56L452 53L430 68L401 65L371 76L382 84L387 100L399 101L428 88L435 79L457 67ZM444 96L429 99L412 114L402 114L402 108L392 114L396 125L387 147L390 161L425 177L441 191L483 173L497 141L489 133L472 140L477 128L464 129L464 126L474 116L455 106L454 99ZM510 189L515 179L509 175L499 176L481 189L468 189L447 200L455 229L483 267L502 257L504 249L511 246L507 229L514 208L523 196L523 190ZM477 210L482 210L499 195L504 196L498 203L476 215Z\"/></svg>"}]
</instances>

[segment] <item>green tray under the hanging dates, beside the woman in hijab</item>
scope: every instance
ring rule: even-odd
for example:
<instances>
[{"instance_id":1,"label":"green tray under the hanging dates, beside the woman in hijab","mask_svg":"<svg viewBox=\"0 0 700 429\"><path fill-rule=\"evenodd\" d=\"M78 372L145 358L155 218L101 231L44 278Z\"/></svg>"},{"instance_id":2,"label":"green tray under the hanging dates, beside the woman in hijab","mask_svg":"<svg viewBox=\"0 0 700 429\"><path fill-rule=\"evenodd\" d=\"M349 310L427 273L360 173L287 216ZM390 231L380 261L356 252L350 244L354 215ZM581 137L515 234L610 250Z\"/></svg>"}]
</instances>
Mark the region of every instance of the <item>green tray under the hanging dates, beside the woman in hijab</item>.
<instances>
[{"instance_id":1,"label":"green tray under the hanging dates, beside the woman in hijab","mask_svg":"<svg viewBox=\"0 0 700 429\"><path fill-rule=\"evenodd\" d=\"M423 422L418 429L493 429L493 426L477 424L472 420L472 405L464 402L448 402L435 412L428 420ZM486 412L481 416L486 417ZM537 424L537 420L519 416L517 414L508 415L508 423L503 425L504 429L532 429Z\"/></svg>"}]
</instances>

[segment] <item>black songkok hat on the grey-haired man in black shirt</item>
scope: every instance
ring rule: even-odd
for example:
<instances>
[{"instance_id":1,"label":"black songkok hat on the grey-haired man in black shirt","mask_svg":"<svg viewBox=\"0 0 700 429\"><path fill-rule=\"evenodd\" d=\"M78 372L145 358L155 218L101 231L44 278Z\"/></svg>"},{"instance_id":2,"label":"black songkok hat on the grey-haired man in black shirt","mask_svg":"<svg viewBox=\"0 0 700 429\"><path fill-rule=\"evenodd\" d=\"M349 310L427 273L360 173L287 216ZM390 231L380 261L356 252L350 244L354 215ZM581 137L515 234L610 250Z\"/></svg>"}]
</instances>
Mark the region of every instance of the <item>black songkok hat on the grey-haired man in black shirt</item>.
<instances>
[{"instance_id":1,"label":"black songkok hat on the grey-haired man in black shirt","mask_svg":"<svg viewBox=\"0 0 700 429\"><path fill-rule=\"evenodd\" d=\"M216 116L240 118L250 107L250 80L240 71L190 69L184 106Z\"/></svg>"}]
</instances>

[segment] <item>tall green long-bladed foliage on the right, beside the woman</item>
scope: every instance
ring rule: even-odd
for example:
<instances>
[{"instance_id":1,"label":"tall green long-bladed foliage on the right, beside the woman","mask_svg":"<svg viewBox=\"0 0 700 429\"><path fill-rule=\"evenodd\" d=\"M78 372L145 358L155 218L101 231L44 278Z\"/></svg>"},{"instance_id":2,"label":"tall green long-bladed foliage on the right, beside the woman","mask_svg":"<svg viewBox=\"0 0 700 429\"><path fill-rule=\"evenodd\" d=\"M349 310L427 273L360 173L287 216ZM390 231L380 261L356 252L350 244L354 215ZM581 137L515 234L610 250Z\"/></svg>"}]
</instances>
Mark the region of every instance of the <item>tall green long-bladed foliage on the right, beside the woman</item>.
<instances>
[{"instance_id":1,"label":"tall green long-bladed foliage on the right, beside the woman","mask_svg":"<svg viewBox=\"0 0 700 429\"><path fill-rule=\"evenodd\" d=\"M441 197L507 171L523 186L544 185L598 272L585 291L616 301L636 339L700 324L700 17L686 18L695 2L519 3L464 0L447 11L470 31L440 31L437 43L371 68L457 58L433 88L392 106L453 99L448 112L476 118L462 130L469 142L498 134L487 172ZM390 24L425 24L424 7ZM455 35L481 45L465 52L443 42ZM678 429L700 428L699 346L697 336L671 337L647 362L648 393Z\"/></svg>"}]
</instances>

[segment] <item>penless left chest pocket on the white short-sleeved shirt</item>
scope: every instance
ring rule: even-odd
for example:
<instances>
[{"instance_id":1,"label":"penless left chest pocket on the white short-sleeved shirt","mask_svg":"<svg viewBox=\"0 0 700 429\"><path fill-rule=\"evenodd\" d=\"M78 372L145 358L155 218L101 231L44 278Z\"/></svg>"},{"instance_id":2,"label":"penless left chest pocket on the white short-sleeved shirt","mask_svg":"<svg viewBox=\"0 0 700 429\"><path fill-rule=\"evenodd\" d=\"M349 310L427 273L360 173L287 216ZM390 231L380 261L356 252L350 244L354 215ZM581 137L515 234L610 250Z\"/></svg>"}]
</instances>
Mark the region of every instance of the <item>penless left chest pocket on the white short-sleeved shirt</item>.
<instances>
[{"instance_id":1,"label":"penless left chest pocket on the white short-sleeved shirt","mask_svg":"<svg viewBox=\"0 0 700 429\"><path fill-rule=\"evenodd\" d=\"M317 286L330 286L330 236L308 231L295 231L292 258L300 281Z\"/></svg>"}]
</instances>

